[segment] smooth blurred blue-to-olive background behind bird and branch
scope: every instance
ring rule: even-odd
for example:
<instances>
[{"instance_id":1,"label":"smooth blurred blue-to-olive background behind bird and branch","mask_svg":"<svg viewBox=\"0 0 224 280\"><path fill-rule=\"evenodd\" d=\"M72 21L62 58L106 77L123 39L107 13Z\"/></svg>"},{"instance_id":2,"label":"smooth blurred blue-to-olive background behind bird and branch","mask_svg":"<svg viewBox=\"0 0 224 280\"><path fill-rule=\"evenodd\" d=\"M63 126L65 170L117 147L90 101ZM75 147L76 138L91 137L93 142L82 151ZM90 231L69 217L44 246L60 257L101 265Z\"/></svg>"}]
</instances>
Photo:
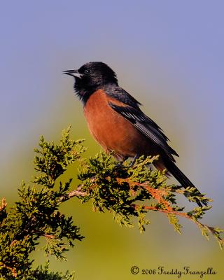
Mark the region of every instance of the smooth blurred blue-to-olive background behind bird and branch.
<instances>
[{"instance_id":1,"label":"smooth blurred blue-to-olive background behind bird and branch","mask_svg":"<svg viewBox=\"0 0 224 280\"><path fill-rule=\"evenodd\" d=\"M86 156L100 151L73 80L62 71L103 61L165 130L179 167L214 200L204 223L224 228L223 8L223 1L202 0L1 1L1 197L13 204L20 181L31 179L41 134L57 140L71 124L73 139L86 139ZM90 204L71 200L62 208L85 239L67 253L67 262L52 259L55 271L75 270L80 280L169 280L177 277L132 275L130 267L214 267L218 274L203 279L224 279L218 244L188 221L181 221L178 235L162 214L151 213L141 235L119 228L110 214L92 212ZM35 265L44 262L41 251L33 257Z\"/></svg>"}]
</instances>

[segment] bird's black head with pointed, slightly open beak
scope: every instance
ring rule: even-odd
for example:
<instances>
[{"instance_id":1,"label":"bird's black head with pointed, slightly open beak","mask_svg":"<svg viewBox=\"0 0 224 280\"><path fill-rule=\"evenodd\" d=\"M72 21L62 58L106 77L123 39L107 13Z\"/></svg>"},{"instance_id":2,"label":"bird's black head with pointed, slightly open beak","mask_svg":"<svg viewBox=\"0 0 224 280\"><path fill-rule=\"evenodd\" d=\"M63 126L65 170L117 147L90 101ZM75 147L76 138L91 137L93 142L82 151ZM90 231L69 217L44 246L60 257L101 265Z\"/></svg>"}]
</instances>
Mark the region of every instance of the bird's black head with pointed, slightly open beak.
<instances>
[{"instance_id":1,"label":"bird's black head with pointed, slightly open beak","mask_svg":"<svg viewBox=\"0 0 224 280\"><path fill-rule=\"evenodd\" d=\"M88 62L78 70L67 70L63 73L75 78L74 90L84 104L100 87L107 84L118 85L116 73L103 62Z\"/></svg>"}]
</instances>

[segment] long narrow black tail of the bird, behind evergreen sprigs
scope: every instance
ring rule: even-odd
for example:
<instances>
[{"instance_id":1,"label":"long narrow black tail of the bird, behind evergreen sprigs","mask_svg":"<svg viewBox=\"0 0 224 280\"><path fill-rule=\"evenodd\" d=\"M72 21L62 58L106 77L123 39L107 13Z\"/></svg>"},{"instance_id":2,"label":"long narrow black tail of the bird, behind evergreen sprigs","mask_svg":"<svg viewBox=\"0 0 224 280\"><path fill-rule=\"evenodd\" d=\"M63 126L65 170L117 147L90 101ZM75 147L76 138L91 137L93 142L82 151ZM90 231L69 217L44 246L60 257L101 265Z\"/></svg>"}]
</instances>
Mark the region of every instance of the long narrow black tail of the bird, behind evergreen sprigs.
<instances>
[{"instance_id":1,"label":"long narrow black tail of the bird, behind evergreen sprigs","mask_svg":"<svg viewBox=\"0 0 224 280\"><path fill-rule=\"evenodd\" d=\"M165 167L167 169L167 171L169 173L171 173L174 178L179 181L179 183L181 183L181 186L183 186L183 188L188 188L188 187L194 187L195 190L197 191L197 196L199 197L203 197L204 195L202 195L202 193L200 193L199 190L197 190L197 188L194 186L194 184L188 179L188 177L183 174L183 172L181 172L181 170L175 165L174 162L172 162L172 160L165 160L164 162ZM187 197L187 196L186 196ZM200 202L200 200L196 200L198 206L202 207L202 204L204 204L205 206L207 206L207 201L202 201Z\"/></svg>"}]
</instances>

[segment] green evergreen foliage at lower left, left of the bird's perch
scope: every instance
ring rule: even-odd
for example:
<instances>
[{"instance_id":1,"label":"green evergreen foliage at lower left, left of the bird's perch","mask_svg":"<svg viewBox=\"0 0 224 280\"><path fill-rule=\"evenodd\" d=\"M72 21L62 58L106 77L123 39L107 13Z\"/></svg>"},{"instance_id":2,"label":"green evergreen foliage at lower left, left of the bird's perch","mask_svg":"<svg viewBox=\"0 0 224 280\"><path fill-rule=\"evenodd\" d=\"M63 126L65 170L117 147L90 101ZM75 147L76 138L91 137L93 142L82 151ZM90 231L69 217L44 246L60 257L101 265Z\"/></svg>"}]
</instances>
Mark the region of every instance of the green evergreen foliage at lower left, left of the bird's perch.
<instances>
[{"instance_id":1,"label":"green evergreen foliage at lower left, left of the bird's perch","mask_svg":"<svg viewBox=\"0 0 224 280\"><path fill-rule=\"evenodd\" d=\"M69 190L72 180L59 181L58 189L55 186L56 179L67 166L85 151L82 143L69 139L69 129L63 132L59 145L48 143L41 137L41 150L35 150L38 155L34 160L38 172L34 183L38 185L29 186L23 182L18 190L20 200L8 211L3 200L0 209L0 274L5 279L27 279L24 277L29 274L32 264L29 255L38 246L40 237L46 241L45 253L61 260L67 251L66 243L73 246L74 241L83 239L72 218L59 212L60 197Z\"/></svg>"}]
</instances>

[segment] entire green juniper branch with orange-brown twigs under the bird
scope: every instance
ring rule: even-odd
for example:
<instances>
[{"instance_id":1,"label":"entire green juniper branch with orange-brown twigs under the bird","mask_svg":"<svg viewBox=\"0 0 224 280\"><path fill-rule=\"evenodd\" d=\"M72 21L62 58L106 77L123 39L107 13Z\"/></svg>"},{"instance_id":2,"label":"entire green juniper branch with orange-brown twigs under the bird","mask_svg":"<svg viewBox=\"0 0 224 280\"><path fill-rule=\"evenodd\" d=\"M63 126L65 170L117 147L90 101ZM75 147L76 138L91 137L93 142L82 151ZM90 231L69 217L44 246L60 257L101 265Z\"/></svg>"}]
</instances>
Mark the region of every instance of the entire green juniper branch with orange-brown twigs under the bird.
<instances>
[{"instance_id":1,"label":"entire green juniper branch with orange-brown twigs under the bird","mask_svg":"<svg viewBox=\"0 0 224 280\"><path fill-rule=\"evenodd\" d=\"M190 202L209 202L195 188L181 189L167 185L165 171L149 166L158 157L139 158L134 165L127 162L118 165L113 155L99 153L94 158L81 158L85 151L83 140L69 139L70 127L62 133L59 144L48 143L43 137L35 149L36 176L34 186L22 183L18 192L20 200L10 209L6 200L0 207L0 276L1 279L73 279L73 274L64 275L49 272L45 267L33 269L31 252L39 248L41 238L45 239L43 251L64 260L64 253L81 241L79 228L72 217L59 211L60 204L76 197L81 202L92 202L94 211L110 211L119 225L133 227L137 220L140 232L146 230L148 211L165 214L176 232L181 233L179 217L193 221L202 235L213 235L223 246L223 230L200 223L200 219L211 207L195 207L184 212L176 202L176 194L184 195ZM71 190L72 179L65 183L62 174L70 165L79 162L80 185Z\"/></svg>"}]
</instances>

